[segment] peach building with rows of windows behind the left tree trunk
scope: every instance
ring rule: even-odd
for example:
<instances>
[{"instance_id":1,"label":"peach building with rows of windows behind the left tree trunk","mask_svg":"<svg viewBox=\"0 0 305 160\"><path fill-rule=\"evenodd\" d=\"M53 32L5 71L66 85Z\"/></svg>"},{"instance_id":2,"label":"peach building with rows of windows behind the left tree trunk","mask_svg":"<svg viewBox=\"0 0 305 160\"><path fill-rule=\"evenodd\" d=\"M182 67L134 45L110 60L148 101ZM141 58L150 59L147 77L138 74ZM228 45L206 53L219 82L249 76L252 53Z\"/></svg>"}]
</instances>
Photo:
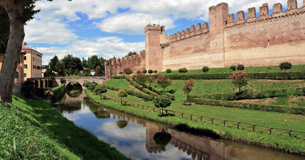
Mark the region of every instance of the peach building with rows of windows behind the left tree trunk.
<instances>
[{"instance_id":1,"label":"peach building with rows of windows behind the left tree trunk","mask_svg":"<svg viewBox=\"0 0 305 160\"><path fill-rule=\"evenodd\" d=\"M27 45L22 46L21 54L19 57L13 91L21 94L21 88L27 78L41 77L41 60L42 54L35 49L29 48ZM2 67L3 55L0 57L0 70Z\"/></svg>"}]
</instances>

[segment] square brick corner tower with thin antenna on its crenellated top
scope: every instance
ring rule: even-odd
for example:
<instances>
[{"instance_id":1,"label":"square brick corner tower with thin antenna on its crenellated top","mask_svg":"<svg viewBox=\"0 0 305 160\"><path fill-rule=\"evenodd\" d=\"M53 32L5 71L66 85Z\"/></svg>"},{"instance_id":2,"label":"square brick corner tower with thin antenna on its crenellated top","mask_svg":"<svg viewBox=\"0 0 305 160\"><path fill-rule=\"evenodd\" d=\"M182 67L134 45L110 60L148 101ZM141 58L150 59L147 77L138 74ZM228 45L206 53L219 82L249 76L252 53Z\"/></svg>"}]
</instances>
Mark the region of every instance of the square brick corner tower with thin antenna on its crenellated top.
<instances>
[{"instance_id":1,"label":"square brick corner tower with thin antenna on its crenellated top","mask_svg":"<svg viewBox=\"0 0 305 160\"><path fill-rule=\"evenodd\" d=\"M160 45L160 35L164 33L164 26L156 24L145 27L145 69L162 71L163 54Z\"/></svg>"}]
</instances>

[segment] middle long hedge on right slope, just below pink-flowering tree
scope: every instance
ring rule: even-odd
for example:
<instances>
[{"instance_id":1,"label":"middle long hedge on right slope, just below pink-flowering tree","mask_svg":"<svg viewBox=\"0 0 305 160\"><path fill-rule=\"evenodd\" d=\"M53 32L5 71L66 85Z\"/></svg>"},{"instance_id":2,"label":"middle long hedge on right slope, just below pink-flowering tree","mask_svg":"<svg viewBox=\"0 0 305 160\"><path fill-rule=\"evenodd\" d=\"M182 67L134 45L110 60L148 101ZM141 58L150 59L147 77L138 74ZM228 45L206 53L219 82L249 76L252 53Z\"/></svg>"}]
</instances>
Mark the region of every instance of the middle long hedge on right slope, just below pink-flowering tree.
<instances>
[{"instance_id":1,"label":"middle long hedge on right slope, just below pink-flowering tree","mask_svg":"<svg viewBox=\"0 0 305 160\"><path fill-rule=\"evenodd\" d=\"M290 88L266 91L245 91L241 93L223 93L210 95L189 95L188 101L192 101L195 98L232 101L241 99L263 99L287 95L305 95L305 88Z\"/></svg>"}]
</instances>

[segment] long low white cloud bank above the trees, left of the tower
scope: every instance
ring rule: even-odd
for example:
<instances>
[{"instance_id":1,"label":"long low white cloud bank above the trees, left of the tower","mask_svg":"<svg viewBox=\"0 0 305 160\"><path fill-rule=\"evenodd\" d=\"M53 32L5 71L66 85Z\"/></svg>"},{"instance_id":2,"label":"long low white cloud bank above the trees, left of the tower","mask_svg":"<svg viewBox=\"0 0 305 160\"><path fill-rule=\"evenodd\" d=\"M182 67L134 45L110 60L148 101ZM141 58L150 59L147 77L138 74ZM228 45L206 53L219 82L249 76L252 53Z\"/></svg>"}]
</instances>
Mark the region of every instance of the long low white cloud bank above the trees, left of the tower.
<instances>
[{"instance_id":1,"label":"long low white cloud bank above the trees, left of the tower","mask_svg":"<svg viewBox=\"0 0 305 160\"><path fill-rule=\"evenodd\" d=\"M128 52L137 52L145 48L144 42L126 43L120 37L101 37L90 40L74 41L67 47L38 47L37 50L43 52L42 64L47 65L48 61L56 54L59 59L67 54L75 57L98 57L112 58L113 56L124 57Z\"/></svg>"}]
</instances>

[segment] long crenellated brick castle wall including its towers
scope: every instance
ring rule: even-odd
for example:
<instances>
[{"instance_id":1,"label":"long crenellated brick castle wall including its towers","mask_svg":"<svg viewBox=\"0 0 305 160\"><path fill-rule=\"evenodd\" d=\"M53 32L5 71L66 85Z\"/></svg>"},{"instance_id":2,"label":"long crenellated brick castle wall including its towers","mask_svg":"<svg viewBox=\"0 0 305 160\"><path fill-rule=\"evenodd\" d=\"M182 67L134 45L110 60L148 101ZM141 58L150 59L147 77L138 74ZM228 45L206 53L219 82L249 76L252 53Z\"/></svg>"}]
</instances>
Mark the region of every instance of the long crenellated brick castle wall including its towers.
<instances>
[{"instance_id":1,"label":"long crenellated brick castle wall including its towers","mask_svg":"<svg viewBox=\"0 0 305 160\"><path fill-rule=\"evenodd\" d=\"M228 4L219 3L209 7L210 27L206 22L199 23L169 36L165 34L164 26L147 25L145 50L139 58L131 58L128 63L124 60L111 65L105 62L106 75L117 75L127 65L134 71L161 72L182 67L279 65L284 61L304 64L305 0L302 8L297 8L296 0L289 0L287 7L283 11L282 5L276 3L273 13L269 14L269 6L264 3L259 17L253 7L248 9L246 20L244 11L238 11L235 21L234 15L228 13Z\"/></svg>"}]
</instances>

